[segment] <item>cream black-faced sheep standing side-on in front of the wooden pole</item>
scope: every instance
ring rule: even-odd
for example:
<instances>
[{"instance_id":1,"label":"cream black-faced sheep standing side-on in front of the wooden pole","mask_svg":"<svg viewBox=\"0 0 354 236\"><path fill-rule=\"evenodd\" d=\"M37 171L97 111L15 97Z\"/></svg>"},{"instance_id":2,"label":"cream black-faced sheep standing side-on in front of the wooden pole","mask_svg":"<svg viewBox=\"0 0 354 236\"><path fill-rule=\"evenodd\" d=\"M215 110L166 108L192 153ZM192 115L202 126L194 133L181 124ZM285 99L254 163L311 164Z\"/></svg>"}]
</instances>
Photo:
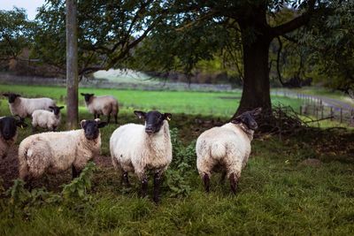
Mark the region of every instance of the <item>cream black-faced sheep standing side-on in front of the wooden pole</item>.
<instances>
[{"instance_id":1,"label":"cream black-faced sheep standing side-on in front of the wooden pole","mask_svg":"<svg viewBox=\"0 0 354 236\"><path fill-rule=\"evenodd\" d=\"M101 148L99 128L105 122L81 120L81 129L65 132L37 133L19 144L19 178L29 183L45 172L73 169L73 179Z\"/></svg>"}]
</instances>

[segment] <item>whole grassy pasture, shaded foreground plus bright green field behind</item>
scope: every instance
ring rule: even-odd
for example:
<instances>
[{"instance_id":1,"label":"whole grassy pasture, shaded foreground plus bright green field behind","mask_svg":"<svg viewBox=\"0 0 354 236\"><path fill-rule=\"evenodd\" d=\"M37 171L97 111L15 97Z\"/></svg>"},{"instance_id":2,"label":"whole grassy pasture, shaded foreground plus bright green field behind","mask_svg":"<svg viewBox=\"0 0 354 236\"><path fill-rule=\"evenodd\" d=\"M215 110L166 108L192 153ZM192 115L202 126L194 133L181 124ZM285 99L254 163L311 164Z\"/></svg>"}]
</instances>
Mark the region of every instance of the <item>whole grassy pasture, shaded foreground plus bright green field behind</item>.
<instances>
[{"instance_id":1,"label":"whole grassy pasture, shaded foreground plus bright green field behind","mask_svg":"<svg viewBox=\"0 0 354 236\"><path fill-rule=\"evenodd\" d=\"M65 103L65 88L0 87L0 92L8 91L30 97L50 96L59 104ZM70 171L38 180L32 194L21 187L5 193L16 178L17 146L10 156L0 160L0 179L6 188L0 185L1 235L353 234L352 132L308 129L281 140L277 136L258 136L252 142L238 194L230 194L228 181L219 183L219 174L212 176L211 193L204 194L196 171L194 141L205 129L227 122L237 107L239 99L235 98L241 93L95 88L80 92L119 98L119 124L139 123L133 110L173 113L173 164L165 174L161 203L156 206L151 194L141 199L140 185L133 175L133 187L120 184L108 150L109 138L117 126L110 124L102 129L102 154L95 158L96 171L89 178L92 187L85 188L84 197L56 201L63 185L70 184ZM82 97L80 100L80 118L92 118ZM295 110L300 105L296 100L276 96L273 103L291 105ZM8 103L2 99L0 115L9 114ZM30 127L19 129L17 145L30 133ZM321 164L302 164L307 158L317 158Z\"/></svg>"}]
</instances>

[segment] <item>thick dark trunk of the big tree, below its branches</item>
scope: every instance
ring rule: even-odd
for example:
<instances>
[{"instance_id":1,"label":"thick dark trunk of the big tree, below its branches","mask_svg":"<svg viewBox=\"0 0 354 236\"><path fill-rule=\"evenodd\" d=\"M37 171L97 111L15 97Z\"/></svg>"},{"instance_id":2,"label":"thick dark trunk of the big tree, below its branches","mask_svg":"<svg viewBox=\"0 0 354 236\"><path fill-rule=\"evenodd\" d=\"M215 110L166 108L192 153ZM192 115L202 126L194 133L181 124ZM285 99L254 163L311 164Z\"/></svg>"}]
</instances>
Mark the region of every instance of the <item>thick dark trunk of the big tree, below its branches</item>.
<instances>
[{"instance_id":1,"label":"thick dark trunk of the big tree, below its branches","mask_svg":"<svg viewBox=\"0 0 354 236\"><path fill-rule=\"evenodd\" d=\"M253 42L242 40L243 89L240 106L235 115L258 107L263 110L272 108L268 67L270 42L266 35L257 35Z\"/></svg>"}]
</instances>

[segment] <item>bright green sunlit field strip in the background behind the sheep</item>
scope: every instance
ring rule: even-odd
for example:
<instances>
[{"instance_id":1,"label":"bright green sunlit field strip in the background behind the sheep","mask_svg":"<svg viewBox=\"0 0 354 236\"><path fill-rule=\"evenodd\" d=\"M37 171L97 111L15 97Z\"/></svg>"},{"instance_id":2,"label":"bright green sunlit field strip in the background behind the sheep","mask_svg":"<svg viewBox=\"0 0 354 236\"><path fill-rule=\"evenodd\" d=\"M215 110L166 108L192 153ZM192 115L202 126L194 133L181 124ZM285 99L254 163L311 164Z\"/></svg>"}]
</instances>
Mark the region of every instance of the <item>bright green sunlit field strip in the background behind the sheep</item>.
<instances>
[{"instance_id":1,"label":"bright green sunlit field strip in the background behind the sheep","mask_svg":"<svg viewBox=\"0 0 354 236\"><path fill-rule=\"evenodd\" d=\"M14 92L27 97L49 96L65 103L65 88L40 86L1 85L0 93ZM142 91L118 90L103 88L80 88L79 93L95 93L95 95L114 95L119 99L123 111L135 109L158 109L164 112L202 114L214 117L230 118L235 113L241 99L241 92L235 93L206 93L181 91ZM282 96L273 96L273 104L291 105L299 110L301 101ZM3 97L0 103L7 103ZM81 110L85 110L83 97L80 96ZM65 111L64 111L65 112ZM5 114L9 112L5 111Z\"/></svg>"}]
</instances>

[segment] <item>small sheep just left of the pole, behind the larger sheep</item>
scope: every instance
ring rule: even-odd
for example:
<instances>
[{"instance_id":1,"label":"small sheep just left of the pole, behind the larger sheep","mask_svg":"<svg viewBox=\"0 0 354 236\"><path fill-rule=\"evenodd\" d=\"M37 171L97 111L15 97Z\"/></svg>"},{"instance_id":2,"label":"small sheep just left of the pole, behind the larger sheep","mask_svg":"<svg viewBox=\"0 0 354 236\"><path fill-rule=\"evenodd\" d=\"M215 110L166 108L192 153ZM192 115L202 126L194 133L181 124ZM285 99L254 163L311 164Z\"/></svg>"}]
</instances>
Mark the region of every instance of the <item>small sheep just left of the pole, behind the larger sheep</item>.
<instances>
[{"instance_id":1,"label":"small sheep just left of the pole, behind the larger sheep","mask_svg":"<svg viewBox=\"0 0 354 236\"><path fill-rule=\"evenodd\" d=\"M40 126L42 128L48 128L51 131L56 131L60 125L60 110L64 106L50 106L50 110L35 110L32 113L32 132L35 133L35 128Z\"/></svg>"}]
</instances>

